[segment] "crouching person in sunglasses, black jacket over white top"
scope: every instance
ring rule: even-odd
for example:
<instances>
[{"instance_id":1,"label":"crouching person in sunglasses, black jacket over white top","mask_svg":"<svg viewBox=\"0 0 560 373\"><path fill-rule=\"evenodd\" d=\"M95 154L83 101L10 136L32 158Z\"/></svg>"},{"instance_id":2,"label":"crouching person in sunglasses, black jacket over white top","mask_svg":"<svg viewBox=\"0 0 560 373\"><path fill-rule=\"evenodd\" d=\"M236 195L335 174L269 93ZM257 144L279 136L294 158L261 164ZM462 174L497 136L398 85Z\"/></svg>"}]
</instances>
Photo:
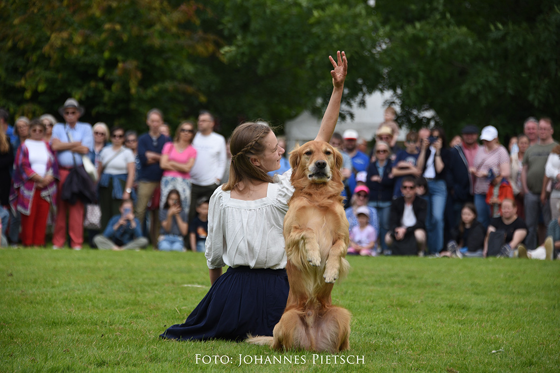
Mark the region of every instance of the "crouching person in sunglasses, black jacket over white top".
<instances>
[{"instance_id":1,"label":"crouching person in sunglasses, black jacket over white top","mask_svg":"<svg viewBox=\"0 0 560 373\"><path fill-rule=\"evenodd\" d=\"M423 256L426 249L426 201L416 197L413 177L405 177L400 189L403 196L391 204L389 232L385 235L385 242L389 246L400 246L398 249L393 248L394 254ZM410 243L406 241L407 238Z\"/></svg>"}]
</instances>

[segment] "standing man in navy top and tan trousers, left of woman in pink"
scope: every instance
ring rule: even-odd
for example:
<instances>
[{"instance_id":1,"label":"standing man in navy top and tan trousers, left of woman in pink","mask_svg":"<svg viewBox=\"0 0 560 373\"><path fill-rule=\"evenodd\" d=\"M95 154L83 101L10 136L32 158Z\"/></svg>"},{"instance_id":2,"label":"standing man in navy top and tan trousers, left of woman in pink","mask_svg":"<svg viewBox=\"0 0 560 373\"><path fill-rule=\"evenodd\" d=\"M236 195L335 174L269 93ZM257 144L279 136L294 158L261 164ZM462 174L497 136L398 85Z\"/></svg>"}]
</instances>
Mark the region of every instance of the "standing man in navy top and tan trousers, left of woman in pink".
<instances>
[{"instance_id":1,"label":"standing man in navy top and tan trousers, left of woman in pink","mask_svg":"<svg viewBox=\"0 0 560 373\"><path fill-rule=\"evenodd\" d=\"M156 108L148 111L146 124L148 133L138 138L138 158L140 158L140 170L138 172L138 188L136 201L136 213L140 224L144 224L148 202L156 201L153 195L159 190L161 176L164 171L160 167L161 151L165 143L171 141L170 138L160 134L160 126L164 123L164 115ZM160 199L157 198L157 204ZM159 216L156 206L151 206L151 226L147 226L146 234L151 239L152 244L157 242L157 233L160 228Z\"/></svg>"}]
</instances>

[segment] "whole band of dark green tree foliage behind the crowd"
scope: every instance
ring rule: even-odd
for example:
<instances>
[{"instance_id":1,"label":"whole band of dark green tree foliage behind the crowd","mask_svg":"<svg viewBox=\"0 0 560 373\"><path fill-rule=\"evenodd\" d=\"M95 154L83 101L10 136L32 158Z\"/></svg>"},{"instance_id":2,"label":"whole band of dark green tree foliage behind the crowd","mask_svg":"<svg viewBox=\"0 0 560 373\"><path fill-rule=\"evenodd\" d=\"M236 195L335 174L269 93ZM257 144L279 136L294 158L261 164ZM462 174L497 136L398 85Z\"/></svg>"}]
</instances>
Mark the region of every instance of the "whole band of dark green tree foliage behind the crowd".
<instances>
[{"instance_id":1,"label":"whole band of dark green tree foliage behind the crowd","mask_svg":"<svg viewBox=\"0 0 560 373\"><path fill-rule=\"evenodd\" d=\"M91 122L143 130L158 107L174 128L207 109L227 135L322 111L327 56L345 50L347 107L390 91L402 125L503 135L530 115L560 119L557 0L7 0L0 25L13 116L55 114L73 96Z\"/></svg>"}]
</instances>

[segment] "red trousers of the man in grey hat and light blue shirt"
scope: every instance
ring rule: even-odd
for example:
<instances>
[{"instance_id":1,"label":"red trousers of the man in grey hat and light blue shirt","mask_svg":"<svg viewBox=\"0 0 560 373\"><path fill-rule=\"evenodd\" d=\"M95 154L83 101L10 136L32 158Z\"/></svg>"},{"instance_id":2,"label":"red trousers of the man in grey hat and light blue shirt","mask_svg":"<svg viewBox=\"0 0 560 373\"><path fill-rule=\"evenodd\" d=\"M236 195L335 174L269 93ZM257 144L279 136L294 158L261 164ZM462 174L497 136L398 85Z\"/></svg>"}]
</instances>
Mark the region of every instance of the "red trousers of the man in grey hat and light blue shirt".
<instances>
[{"instance_id":1,"label":"red trousers of the man in grey hat and light blue shirt","mask_svg":"<svg viewBox=\"0 0 560 373\"><path fill-rule=\"evenodd\" d=\"M60 198L62 185L70 171L63 168L60 168L58 171L60 178L57 192L57 217L54 220L53 245L63 247L64 242L66 242L66 218L68 215L70 246L72 248L81 248L83 243L83 203L82 201L77 201L76 204L71 205Z\"/></svg>"}]
</instances>

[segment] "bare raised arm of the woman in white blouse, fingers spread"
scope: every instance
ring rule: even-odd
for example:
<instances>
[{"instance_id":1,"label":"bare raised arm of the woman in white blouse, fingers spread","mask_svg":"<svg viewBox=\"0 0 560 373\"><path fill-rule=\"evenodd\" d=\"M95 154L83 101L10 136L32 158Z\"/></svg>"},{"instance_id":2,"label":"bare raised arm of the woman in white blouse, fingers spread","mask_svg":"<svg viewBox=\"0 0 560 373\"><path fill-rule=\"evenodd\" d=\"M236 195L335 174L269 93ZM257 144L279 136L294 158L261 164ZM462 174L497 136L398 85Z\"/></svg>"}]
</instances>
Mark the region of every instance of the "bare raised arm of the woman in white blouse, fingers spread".
<instances>
[{"instance_id":1,"label":"bare raised arm of the woman in white blouse, fingers spread","mask_svg":"<svg viewBox=\"0 0 560 373\"><path fill-rule=\"evenodd\" d=\"M334 70L330 71L330 75L333 77L333 93L330 95L329 105L326 107L319 133L315 138L315 140L326 141L327 143L333 136L334 128L337 125L340 100L344 91L344 79L346 79L348 70L348 62L344 51L337 51L337 62L334 61L332 56L329 56L329 60L334 67Z\"/></svg>"}]
</instances>

